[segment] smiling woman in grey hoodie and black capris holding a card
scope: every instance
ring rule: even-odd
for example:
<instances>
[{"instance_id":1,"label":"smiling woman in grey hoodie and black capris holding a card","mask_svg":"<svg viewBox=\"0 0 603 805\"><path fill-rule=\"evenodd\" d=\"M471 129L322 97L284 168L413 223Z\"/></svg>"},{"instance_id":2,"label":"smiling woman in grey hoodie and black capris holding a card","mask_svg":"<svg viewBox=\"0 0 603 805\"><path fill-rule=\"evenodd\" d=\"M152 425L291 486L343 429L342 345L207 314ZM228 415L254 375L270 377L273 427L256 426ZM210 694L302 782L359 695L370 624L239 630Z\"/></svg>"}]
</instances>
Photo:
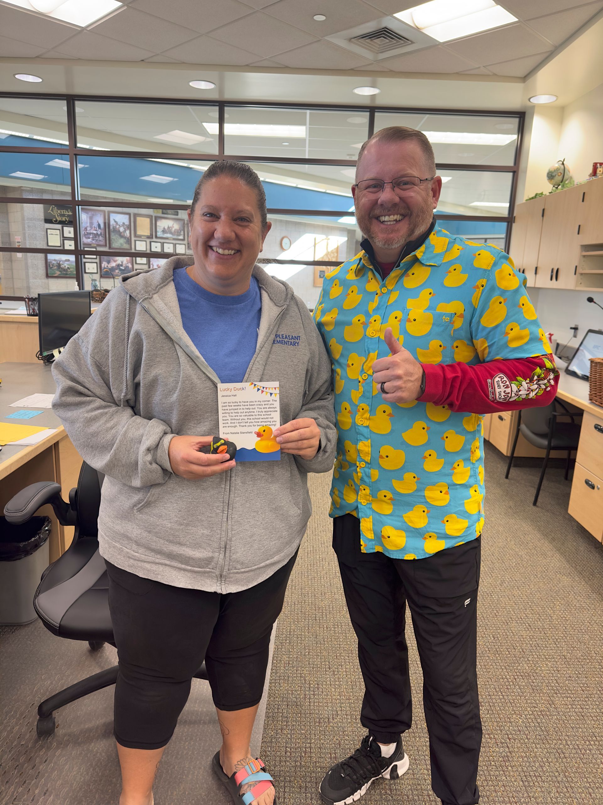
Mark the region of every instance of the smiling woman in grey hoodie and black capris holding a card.
<instances>
[{"instance_id":1,"label":"smiling woman in grey hoodie and black capris holding a card","mask_svg":"<svg viewBox=\"0 0 603 805\"><path fill-rule=\"evenodd\" d=\"M119 654L120 805L153 802L203 659L223 735L215 774L234 802L272 805L249 741L310 517L306 473L333 465L331 367L304 303L256 265L270 229L256 173L213 163L188 214L195 262L121 279L55 361L54 409L106 474L98 530ZM282 332L297 346L278 343ZM199 452L219 432L216 384L243 380L280 383L280 461Z\"/></svg>"}]
</instances>

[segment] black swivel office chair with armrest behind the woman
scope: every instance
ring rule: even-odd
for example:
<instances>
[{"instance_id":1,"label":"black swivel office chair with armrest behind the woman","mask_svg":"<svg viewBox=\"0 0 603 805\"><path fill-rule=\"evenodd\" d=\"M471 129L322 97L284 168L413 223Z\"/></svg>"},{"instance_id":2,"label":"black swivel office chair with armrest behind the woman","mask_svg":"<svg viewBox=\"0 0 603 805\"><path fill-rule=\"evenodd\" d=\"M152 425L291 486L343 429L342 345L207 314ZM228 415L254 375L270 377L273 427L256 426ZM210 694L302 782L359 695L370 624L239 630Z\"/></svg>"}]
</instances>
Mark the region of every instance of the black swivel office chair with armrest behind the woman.
<instances>
[{"instance_id":1,"label":"black swivel office chair with armrest behind the woman","mask_svg":"<svg viewBox=\"0 0 603 805\"><path fill-rule=\"evenodd\" d=\"M69 493L69 503L61 497L59 484L40 481L22 489L4 507L6 519L19 524L33 517L40 506L50 503L61 525L75 526L67 551L43 572L35 591L34 608L52 634L87 641L92 651L105 642L115 646L109 614L109 579L105 560L98 552L97 519L104 478L84 461L77 488ZM195 677L207 679L205 663ZM116 680L117 665L114 665L44 700L38 707L35 727L39 737L55 732L55 710L114 685Z\"/></svg>"}]
</instances>

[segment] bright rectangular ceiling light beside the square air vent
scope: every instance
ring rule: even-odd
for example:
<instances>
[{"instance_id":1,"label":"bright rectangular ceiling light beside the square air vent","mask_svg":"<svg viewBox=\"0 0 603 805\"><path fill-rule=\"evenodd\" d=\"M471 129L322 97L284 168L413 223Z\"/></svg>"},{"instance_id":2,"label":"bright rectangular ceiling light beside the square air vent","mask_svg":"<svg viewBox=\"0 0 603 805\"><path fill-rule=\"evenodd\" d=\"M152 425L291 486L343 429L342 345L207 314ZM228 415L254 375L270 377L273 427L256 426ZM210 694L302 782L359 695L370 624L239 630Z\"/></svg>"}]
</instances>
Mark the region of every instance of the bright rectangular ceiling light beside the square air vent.
<instances>
[{"instance_id":1,"label":"bright rectangular ceiling light beside the square air vent","mask_svg":"<svg viewBox=\"0 0 603 805\"><path fill-rule=\"evenodd\" d=\"M438 42L517 22L517 17L497 6L494 0L432 0L400 11L394 17Z\"/></svg>"}]
</instances>

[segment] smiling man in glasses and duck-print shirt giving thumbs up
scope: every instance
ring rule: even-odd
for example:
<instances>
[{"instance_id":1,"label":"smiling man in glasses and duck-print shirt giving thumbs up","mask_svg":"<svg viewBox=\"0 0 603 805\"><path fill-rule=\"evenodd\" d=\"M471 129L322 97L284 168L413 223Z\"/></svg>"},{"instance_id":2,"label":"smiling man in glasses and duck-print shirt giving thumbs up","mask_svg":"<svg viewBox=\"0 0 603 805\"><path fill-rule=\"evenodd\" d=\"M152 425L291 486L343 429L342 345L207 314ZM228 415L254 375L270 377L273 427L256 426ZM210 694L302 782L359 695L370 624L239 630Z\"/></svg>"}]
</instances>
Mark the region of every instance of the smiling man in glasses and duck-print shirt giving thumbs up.
<instances>
[{"instance_id":1,"label":"smiling man in glasses and duck-print shirt giving thumbs up","mask_svg":"<svg viewBox=\"0 0 603 805\"><path fill-rule=\"evenodd\" d=\"M497 247L440 229L440 192L424 134L392 126L365 142L352 187L363 251L326 276L314 316L336 381L333 547L368 730L322 780L330 805L408 769L407 601L433 791L444 805L478 803L482 415L556 394L523 275Z\"/></svg>"}]
</instances>

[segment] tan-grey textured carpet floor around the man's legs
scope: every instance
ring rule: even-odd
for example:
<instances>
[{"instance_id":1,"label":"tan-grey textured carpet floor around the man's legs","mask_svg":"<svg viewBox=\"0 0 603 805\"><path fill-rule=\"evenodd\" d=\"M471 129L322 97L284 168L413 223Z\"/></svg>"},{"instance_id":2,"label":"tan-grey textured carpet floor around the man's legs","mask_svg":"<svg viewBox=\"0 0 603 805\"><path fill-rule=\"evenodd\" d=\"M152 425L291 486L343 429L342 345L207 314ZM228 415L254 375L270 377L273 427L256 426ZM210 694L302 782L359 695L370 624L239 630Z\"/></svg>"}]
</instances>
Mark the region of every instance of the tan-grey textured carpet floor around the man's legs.
<instances>
[{"instance_id":1,"label":"tan-grey textured carpet floor around the man's legs","mask_svg":"<svg viewBox=\"0 0 603 805\"><path fill-rule=\"evenodd\" d=\"M520 460L519 460L520 461ZM486 445L478 673L483 805L603 803L603 547L569 517L563 469L506 459ZM531 466L527 466L531 464ZM318 805L318 784L363 737L355 635L330 547L330 477L311 477L314 516L279 619L262 758L280 802ZM408 617L408 624L410 618ZM414 700L399 781L377 781L363 805L437 805L421 672L408 625Z\"/></svg>"}]
</instances>

